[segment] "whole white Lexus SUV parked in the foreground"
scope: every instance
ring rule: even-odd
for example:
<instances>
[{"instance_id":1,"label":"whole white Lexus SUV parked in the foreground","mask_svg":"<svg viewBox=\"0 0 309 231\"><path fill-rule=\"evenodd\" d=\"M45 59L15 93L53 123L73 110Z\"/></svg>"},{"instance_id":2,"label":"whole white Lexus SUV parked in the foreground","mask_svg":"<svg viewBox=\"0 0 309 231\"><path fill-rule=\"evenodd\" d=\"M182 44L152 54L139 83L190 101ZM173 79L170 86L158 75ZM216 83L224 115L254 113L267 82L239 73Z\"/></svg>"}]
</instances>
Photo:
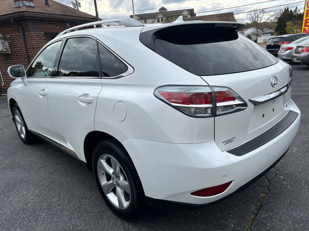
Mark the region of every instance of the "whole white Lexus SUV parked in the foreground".
<instances>
[{"instance_id":1,"label":"whole white Lexus SUV parked in the foreground","mask_svg":"<svg viewBox=\"0 0 309 231\"><path fill-rule=\"evenodd\" d=\"M300 123L291 67L243 27L121 18L70 28L27 71L8 68L18 135L85 162L122 217L229 197L281 159Z\"/></svg>"}]
</instances>

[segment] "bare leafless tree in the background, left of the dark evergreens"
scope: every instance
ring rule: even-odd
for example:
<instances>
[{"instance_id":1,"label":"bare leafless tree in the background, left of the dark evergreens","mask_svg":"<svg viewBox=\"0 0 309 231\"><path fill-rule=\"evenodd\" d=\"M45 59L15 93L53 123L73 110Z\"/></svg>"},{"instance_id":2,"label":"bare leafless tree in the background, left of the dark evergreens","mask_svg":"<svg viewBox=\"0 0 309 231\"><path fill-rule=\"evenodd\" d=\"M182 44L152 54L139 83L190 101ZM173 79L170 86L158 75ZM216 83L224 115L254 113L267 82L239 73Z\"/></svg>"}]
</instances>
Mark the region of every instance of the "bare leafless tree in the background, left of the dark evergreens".
<instances>
[{"instance_id":1,"label":"bare leafless tree in the background, left of the dark evergreens","mask_svg":"<svg viewBox=\"0 0 309 231\"><path fill-rule=\"evenodd\" d=\"M247 18L251 22L252 27L256 29L256 36L259 34L259 25L261 22L268 22L275 13L269 12L265 9L255 8L247 13Z\"/></svg>"}]
</instances>

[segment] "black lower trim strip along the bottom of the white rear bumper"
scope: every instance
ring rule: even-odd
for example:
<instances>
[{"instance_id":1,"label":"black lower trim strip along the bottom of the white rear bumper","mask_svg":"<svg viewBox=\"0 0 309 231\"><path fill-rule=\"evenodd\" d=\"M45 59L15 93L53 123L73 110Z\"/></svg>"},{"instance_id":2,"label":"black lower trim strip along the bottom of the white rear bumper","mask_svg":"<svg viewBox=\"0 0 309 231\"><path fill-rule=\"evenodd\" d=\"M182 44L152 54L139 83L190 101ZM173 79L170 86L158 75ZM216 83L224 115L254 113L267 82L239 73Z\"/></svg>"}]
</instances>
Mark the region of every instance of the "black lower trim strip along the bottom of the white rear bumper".
<instances>
[{"instance_id":1,"label":"black lower trim strip along the bottom of the white rear bumper","mask_svg":"<svg viewBox=\"0 0 309 231\"><path fill-rule=\"evenodd\" d=\"M290 148L290 147L289 147ZM199 207L205 207L209 205L216 204L220 201L223 201L231 196L234 196L236 193L239 193L243 189L249 187L251 184L259 180L262 176L265 175L266 172L268 172L273 166L275 166L279 160L286 154L286 152L289 150L289 148L273 163L271 164L268 168L266 168L263 172L261 172L259 175L254 177L253 179L249 180L246 184L243 184L240 186L236 191L233 193L217 200L217 201L212 201L209 203L205 204L191 204L191 203L185 203L185 202L179 202L179 201L167 201L167 200L161 200L161 199L155 199L152 197L147 197L146 196L146 203L152 207L158 208L158 209L192 209L192 208L199 208Z\"/></svg>"}]
</instances>

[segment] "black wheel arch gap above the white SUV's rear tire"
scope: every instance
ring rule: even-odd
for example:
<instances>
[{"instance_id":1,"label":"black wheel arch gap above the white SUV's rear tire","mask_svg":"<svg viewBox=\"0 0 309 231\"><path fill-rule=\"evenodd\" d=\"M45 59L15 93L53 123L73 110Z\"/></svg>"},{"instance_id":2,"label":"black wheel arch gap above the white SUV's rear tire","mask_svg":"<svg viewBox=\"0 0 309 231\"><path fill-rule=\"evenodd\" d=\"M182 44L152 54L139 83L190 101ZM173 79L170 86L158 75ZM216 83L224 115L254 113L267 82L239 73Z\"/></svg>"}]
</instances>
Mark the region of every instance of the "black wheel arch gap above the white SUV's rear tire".
<instances>
[{"instance_id":1,"label":"black wheel arch gap above the white SUV's rear tire","mask_svg":"<svg viewBox=\"0 0 309 231\"><path fill-rule=\"evenodd\" d=\"M116 139L114 136L101 131L92 131L89 132L84 139L84 155L88 169L92 172L92 154L96 145L105 139L114 139L117 140L120 144L121 142ZM122 145L122 144L121 144Z\"/></svg>"}]
</instances>

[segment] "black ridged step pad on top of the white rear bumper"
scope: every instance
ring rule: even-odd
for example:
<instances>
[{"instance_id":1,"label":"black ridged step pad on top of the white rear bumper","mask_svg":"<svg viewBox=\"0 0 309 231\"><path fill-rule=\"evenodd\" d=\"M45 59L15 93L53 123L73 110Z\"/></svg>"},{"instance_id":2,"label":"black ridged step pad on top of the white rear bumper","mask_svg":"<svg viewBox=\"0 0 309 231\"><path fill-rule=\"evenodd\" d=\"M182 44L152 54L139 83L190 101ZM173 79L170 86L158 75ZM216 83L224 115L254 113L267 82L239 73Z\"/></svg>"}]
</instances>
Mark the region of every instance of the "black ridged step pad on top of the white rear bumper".
<instances>
[{"instance_id":1,"label":"black ridged step pad on top of the white rear bumper","mask_svg":"<svg viewBox=\"0 0 309 231\"><path fill-rule=\"evenodd\" d=\"M256 148L263 146L264 144L268 143L270 140L273 140L277 136L279 136L282 132L284 132L297 118L298 113L295 111L289 111L286 116L283 117L277 124L273 125L267 131L261 133L260 135L256 136L252 140L239 145L236 148L228 150L228 153L231 153L235 156L242 156L247 154L248 152L252 152Z\"/></svg>"}]
</instances>

